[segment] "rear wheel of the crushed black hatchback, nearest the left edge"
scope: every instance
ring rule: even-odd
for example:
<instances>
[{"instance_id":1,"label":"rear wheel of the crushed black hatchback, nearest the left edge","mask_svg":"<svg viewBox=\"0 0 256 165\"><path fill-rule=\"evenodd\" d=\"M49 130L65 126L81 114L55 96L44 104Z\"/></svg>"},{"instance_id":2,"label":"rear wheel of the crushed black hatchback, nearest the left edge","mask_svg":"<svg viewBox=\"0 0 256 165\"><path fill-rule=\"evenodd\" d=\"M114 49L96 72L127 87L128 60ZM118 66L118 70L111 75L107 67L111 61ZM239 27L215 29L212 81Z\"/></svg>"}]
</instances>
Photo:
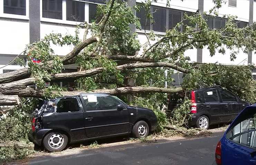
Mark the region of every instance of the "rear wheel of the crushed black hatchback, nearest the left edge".
<instances>
[{"instance_id":1,"label":"rear wheel of the crushed black hatchback, nearest the left edge","mask_svg":"<svg viewBox=\"0 0 256 165\"><path fill-rule=\"evenodd\" d=\"M67 135L59 132L50 132L45 136L43 140L44 148L48 152L62 151L67 146L67 144Z\"/></svg>"}]
</instances>

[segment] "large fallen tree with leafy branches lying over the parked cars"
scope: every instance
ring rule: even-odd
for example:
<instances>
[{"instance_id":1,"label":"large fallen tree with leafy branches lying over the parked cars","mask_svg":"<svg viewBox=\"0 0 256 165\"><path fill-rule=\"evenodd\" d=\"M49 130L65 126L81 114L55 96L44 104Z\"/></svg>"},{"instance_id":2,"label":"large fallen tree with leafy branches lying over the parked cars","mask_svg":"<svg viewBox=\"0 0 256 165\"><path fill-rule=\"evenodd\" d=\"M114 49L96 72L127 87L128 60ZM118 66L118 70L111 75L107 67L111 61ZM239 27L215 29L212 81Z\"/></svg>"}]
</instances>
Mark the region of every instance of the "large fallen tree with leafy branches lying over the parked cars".
<instances>
[{"instance_id":1,"label":"large fallen tree with leafy branches lying over the parked cars","mask_svg":"<svg viewBox=\"0 0 256 165\"><path fill-rule=\"evenodd\" d=\"M221 3L221 0L216 1L210 14L205 16L214 15ZM150 1L146 1L142 3L142 7L150 11L150 4ZM225 68L207 70L205 64L191 64L189 57L184 56L185 51L207 46L210 55L213 56L216 51L225 54L224 47L226 47L232 50L230 54L232 60L238 53L234 48L244 48L245 53L255 49L251 44L256 36L255 31L250 28L252 25L237 28L239 22L234 22L236 18L234 16L225 18L226 24L221 29L209 30L207 19L201 14L195 13L190 16L184 14L183 20L176 27L168 30L163 37L153 33L149 37L145 31L148 41L141 45L136 38L137 34L131 34L130 25L134 24L137 29L141 29L140 22L134 16L131 7L112 0L107 5L98 5L98 9L98 19L96 19L98 21L92 24L79 24L75 36L51 33L36 43L28 44L25 48L28 67L0 75L0 105L16 105L19 103L19 97L49 98L88 91L139 96L139 93L176 93L190 90L200 84L216 83L219 81L218 78L210 83L207 81L225 73ZM140 6L136 6L136 9L139 10ZM120 19L120 15L125 16ZM183 24L184 20L189 20L190 25ZM200 30L194 28L193 25L196 23ZM182 32L179 31L180 24L183 24ZM78 37L81 28L85 29L83 41ZM89 29L92 37L87 39ZM54 54L51 44L73 45L75 48L60 58ZM33 63L31 57L36 57L40 63ZM126 64L119 65L118 61L126 61ZM61 73L67 64L75 64L80 70ZM164 75L166 70L168 76ZM173 81L171 74L174 74L174 70L184 73L185 80L186 77L187 79L198 77L199 81L195 83L194 79L190 82L188 80L187 84L182 85L183 89L163 88L165 81ZM113 81L110 75L114 76ZM203 76L208 79L200 81ZM130 83L132 79L135 80L136 85ZM56 92L55 89L44 86L46 82L61 81L75 81L80 83L82 88ZM102 89L101 82L108 83L108 89ZM229 86L228 83L217 83L229 89L236 88L235 85ZM150 84L154 87L145 87ZM36 85L37 89L28 87L31 85Z\"/></svg>"}]
</instances>

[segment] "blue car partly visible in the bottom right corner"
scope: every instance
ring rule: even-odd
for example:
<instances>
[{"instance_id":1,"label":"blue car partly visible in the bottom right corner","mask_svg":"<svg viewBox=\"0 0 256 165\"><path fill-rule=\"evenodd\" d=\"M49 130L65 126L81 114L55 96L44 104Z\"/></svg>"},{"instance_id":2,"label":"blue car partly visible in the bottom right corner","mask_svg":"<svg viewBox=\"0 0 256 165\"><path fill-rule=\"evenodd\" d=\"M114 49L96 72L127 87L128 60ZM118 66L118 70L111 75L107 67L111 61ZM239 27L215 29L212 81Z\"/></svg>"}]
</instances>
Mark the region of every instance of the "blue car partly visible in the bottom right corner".
<instances>
[{"instance_id":1,"label":"blue car partly visible in the bottom right corner","mask_svg":"<svg viewBox=\"0 0 256 165\"><path fill-rule=\"evenodd\" d=\"M256 165L256 104L230 124L215 150L212 165Z\"/></svg>"}]
</instances>

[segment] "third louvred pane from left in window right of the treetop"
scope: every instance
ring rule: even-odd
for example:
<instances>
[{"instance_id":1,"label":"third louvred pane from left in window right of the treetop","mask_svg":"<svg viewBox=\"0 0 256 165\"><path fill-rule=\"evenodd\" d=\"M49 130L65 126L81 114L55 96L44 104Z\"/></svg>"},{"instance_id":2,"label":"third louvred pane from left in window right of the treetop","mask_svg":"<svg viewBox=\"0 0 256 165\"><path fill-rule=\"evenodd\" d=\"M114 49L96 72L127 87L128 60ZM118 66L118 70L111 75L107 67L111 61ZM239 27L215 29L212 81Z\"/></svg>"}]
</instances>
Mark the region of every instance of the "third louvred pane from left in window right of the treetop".
<instances>
[{"instance_id":1,"label":"third louvred pane from left in window right of the treetop","mask_svg":"<svg viewBox=\"0 0 256 165\"><path fill-rule=\"evenodd\" d=\"M169 10L169 29L174 28L177 23L181 21L182 11L170 9ZM177 28L180 31L180 28Z\"/></svg>"}]
</instances>

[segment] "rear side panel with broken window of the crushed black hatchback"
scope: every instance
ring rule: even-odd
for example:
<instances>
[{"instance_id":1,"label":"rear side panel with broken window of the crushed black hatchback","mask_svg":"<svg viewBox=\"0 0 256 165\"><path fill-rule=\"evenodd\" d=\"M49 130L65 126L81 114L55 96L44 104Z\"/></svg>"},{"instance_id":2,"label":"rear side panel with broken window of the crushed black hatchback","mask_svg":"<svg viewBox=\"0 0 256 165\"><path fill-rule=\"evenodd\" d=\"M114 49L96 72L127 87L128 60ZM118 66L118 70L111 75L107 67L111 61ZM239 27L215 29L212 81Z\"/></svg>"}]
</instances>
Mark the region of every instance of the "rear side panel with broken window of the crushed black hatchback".
<instances>
[{"instance_id":1,"label":"rear side panel with broken window of the crushed black hatchback","mask_svg":"<svg viewBox=\"0 0 256 165\"><path fill-rule=\"evenodd\" d=\"M84 112L78 97L58 98L54 113L48 128L68 132L72 141L85 139Z\"/></svg>"}]
</instances>

